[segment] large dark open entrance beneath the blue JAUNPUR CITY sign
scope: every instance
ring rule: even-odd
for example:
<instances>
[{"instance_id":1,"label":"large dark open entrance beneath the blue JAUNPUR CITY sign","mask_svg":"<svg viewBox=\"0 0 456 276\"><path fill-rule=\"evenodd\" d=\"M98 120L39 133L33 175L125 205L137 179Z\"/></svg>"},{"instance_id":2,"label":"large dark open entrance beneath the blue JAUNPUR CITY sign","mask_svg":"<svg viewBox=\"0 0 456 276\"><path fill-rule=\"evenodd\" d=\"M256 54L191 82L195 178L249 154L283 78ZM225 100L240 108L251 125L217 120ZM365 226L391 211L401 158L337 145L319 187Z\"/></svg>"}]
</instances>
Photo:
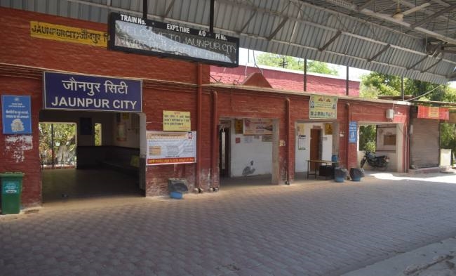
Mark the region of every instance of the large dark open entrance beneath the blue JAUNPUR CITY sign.
<instances>
[{"instance_id":1,"label":"large dark open entrance beneath the blue JAUNPUR CITY sign","mask_svg":"<svg viewBox=\"0 0 456 276\"><path fill-rule=\"evenodd\" d=\"M43 203L145 195L140 114L41 110Z\"/></svg>"}]
</instances>

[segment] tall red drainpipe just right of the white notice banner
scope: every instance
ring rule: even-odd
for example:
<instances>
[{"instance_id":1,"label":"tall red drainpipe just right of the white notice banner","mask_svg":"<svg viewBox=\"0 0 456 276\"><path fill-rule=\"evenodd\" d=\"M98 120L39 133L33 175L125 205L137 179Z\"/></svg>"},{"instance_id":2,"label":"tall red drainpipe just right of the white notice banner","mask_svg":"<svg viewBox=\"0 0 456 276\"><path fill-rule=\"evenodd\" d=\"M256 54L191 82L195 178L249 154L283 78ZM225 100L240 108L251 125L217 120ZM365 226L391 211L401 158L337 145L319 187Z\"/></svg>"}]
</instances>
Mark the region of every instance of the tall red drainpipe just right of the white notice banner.
<instances>
[{"instance_id":1,"label":"tall red drainpipe just right of the white notice banner","mask_svg":"<svg viewBox=\"0 0 456 276\"><path fill-rule=\"evenodd\" d=\"M202 126L202 98L203 98L203 65L198 63L198 91L196 95L196 188L201 188L201 134Z\"/></svg>"}]
</instances>

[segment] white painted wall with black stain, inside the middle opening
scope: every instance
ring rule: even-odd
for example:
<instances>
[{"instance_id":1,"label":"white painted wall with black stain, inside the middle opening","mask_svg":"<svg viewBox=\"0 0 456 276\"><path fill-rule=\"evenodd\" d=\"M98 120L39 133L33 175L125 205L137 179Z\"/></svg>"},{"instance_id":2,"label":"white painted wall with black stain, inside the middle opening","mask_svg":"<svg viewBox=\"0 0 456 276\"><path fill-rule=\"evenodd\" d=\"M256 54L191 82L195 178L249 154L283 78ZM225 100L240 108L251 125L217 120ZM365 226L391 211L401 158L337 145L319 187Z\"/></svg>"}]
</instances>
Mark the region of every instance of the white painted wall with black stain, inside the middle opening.
<instances>
[{"instance_id":1,"label":"white painted wall with black stain, inside the middle opening","mask_svg":"<svg viewBox=\"0 0 456 276\"><path fill-rule=\"evenodd\" d=\"M234 121L232 121L234 126ZM250 166L255 169L250 176L270 174L272 172L272 139L270 142L262 142L262 136L244 136L235 134L234 127L231 131L231 177L243 176L243 170ZM236 138L240 143L236 143Z\"/></svg>"}]
</instances>

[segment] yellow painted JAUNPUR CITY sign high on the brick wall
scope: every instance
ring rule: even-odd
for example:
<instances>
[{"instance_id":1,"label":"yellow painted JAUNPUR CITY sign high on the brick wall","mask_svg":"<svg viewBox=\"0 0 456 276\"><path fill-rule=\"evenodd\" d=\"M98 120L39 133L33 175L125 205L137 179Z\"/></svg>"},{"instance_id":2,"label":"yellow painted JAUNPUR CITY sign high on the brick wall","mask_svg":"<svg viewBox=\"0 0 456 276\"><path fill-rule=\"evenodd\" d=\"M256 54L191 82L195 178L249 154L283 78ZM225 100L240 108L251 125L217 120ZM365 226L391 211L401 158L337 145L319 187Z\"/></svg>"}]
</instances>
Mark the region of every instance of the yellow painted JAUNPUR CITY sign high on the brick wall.
<instances>
[{"instance_id":1,"label":"yellow painted JAUNPUR CITY sign high on the brick wall","mask_svg":"<svg viewBox=\"0 0 456 276\"><path fill-rule=\"evenodd\" d=\"M46 22L30 21L30 36L37 37L39 39L51 39L91 46L107 47L106 32L55 25Z\"/></svg>"}]
</instances>

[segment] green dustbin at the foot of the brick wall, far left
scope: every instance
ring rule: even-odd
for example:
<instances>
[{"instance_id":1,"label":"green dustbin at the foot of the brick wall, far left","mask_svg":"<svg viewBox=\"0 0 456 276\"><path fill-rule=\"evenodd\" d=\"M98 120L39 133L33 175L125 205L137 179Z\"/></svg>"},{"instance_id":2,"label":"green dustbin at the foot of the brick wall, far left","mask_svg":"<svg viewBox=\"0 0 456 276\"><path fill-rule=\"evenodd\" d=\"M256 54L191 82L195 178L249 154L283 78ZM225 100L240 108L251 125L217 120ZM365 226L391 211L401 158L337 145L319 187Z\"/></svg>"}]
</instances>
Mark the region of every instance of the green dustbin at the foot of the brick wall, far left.
<instances>
[{"instance_id":1,"label":"green dustbin at the foot of the brick wall, far left","mask_svg":"<svg viewBox=\"0 0 456 276\"><path fill-rule=\"evenodd\" d=\"M20 195L24 173L0 173L1 213L20 213Z\"/></svg>"}]
</instances>

